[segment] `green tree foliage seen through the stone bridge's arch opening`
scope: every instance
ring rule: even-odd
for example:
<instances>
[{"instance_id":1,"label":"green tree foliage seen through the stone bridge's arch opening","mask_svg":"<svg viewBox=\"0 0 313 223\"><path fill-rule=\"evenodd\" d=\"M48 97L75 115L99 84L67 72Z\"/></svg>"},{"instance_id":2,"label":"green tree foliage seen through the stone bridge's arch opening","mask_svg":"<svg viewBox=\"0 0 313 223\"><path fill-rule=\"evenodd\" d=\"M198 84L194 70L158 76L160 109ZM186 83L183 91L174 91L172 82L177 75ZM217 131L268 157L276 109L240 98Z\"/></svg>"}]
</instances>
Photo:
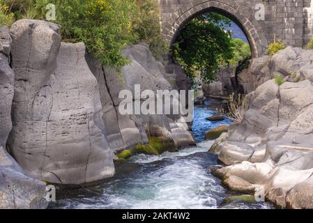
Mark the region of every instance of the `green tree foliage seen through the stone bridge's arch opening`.
<instances>
[{"instance_id":1,"label":"green tree foliage seen through the stone bridge's arch opening","mask_svg":"<svg viewBox=\"0 0 313 223\"><path fill-rule=\"evenodd\" d=\"M231 31L225 31L230 25L227 17L206 13L194 17L181 30L173 54L190 79L200 73L204 82L211 82L222 66L236 66L251 56L249 44L231 39Z\"/></svg>"}]
</instances>

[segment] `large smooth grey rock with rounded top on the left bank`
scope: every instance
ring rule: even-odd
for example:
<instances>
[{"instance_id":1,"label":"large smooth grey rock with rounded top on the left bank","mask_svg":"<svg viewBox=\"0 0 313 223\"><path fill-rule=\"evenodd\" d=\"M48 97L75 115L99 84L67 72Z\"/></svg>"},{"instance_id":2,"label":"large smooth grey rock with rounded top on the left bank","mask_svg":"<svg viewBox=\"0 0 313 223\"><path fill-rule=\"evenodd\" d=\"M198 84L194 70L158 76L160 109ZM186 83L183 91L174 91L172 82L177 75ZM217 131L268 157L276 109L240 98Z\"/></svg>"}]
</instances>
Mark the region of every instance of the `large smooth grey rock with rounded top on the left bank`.
<instances>
[{"instance_id":1,"label":"large smooth grey rock with rounded top on the left bank","mask_svg":"<svg viewBox=\"0 0 313 223\"><path fill-rule=\"evenodd\" d=\"M8 145L17 162L52 183L113 176L99 85L84 44L61 45L59 26L36 20L16 22L11 36L15 97Z\"/></svg>"}]
</instances>

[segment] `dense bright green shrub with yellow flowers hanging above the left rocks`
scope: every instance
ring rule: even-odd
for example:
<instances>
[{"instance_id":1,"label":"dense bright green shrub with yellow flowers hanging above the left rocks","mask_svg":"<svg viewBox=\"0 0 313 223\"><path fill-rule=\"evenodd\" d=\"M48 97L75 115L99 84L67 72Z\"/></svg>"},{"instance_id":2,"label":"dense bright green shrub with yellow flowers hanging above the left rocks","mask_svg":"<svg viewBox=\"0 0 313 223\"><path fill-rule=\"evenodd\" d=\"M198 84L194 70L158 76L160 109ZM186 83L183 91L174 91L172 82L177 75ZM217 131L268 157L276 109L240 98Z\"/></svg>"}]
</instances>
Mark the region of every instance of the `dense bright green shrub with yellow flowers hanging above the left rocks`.
<instances>
[{"instance_id":1,"label":"dense bright green shrub with yellow flowers hanging above the left rocks","mask_svg":"<svg viewBox=\"0 0 313 223\"><path fill-rule=\"evenodd\" d=\"M89 52L105 66L121 68L128 60L121 49L132 43L131 0L36 0L36 8L45 15L47 3L56 5L56 23L70 42L84 42Z\"/></svg>"}]
</instances>

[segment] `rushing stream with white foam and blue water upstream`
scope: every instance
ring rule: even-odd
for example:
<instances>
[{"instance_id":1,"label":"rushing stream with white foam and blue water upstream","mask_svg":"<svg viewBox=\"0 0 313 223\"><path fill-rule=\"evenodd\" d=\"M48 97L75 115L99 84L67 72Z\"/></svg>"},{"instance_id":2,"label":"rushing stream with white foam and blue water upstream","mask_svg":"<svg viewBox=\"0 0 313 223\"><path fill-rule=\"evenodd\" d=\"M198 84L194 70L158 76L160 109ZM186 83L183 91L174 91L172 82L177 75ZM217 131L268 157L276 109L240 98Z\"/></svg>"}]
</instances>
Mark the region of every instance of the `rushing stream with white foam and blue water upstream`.
<instances>
[{"instance_id":1,"label":"rushing stream with white foam and blue water upstream","mask_svg":"<svg viewBox=\"0 0 313 223\"><path fill-rule=\"evenodd\" d=\"M197 146L177 153L137 155L116 163L116 176L98 185L59 188L49 208L273 208L268 203L229 203L221 206L229 192L208 170L217 165L217 156L208 153L212 141L203 141L204 132L229 120L211 122L209 106L196 106L193 132Z\"/></svg>"}]
</instances>

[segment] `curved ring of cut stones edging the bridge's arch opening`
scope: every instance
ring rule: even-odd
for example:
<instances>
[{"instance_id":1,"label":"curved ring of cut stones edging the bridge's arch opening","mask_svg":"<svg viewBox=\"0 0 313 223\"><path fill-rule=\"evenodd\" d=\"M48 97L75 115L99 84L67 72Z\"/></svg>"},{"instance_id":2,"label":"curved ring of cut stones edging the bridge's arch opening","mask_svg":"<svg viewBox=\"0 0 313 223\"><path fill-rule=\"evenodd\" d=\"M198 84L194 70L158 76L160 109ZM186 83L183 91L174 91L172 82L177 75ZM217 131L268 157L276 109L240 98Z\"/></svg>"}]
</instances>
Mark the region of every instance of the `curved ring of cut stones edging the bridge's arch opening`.
<instances>
[{"instance_id":1,"label":"curved ring of cut stones edging the bridge's arch opening","mask_svg":"<svg viewBox=\"0 0 313 223\"><path fill-rule=\"evenodd\" d=\"M249 40L252 57L263 56L268 47L268 40L261 26L259 26L258 21L254 19L252 10L250 10L250 13L244 15L240 9L241 8L238 6L235 8L234 6L220 1L204 1L201 3L191 1L188 6L179 8L176 13L171 13L170 21L162 23L162 34L165 36L167 43L172 45L178 33L192 18L207 12L220 13L221 15L229 17L229 19L241 27Z\"/></svg>"}]
</instances>

